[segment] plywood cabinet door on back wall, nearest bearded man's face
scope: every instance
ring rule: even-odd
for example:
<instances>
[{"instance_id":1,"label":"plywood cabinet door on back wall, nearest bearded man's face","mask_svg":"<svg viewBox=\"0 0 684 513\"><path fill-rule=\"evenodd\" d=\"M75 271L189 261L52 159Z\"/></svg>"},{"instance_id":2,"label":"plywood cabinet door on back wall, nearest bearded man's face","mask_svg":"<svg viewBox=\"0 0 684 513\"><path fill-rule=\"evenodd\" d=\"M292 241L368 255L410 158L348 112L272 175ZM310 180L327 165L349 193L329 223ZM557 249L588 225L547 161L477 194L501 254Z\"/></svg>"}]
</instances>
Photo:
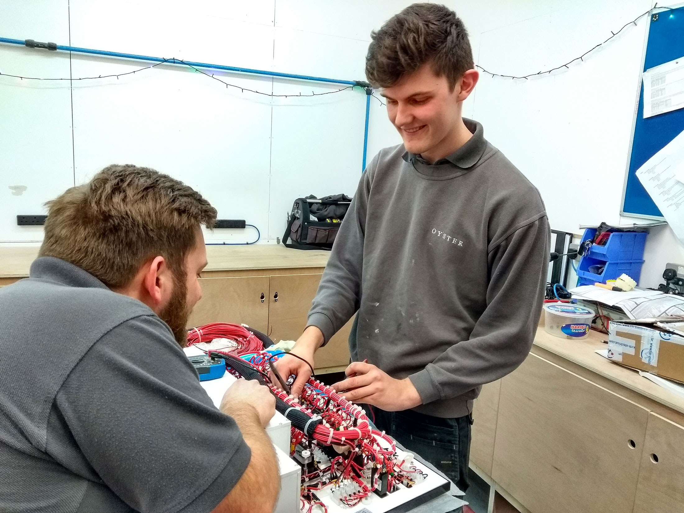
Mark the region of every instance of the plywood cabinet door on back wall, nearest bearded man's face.
<instances>
[{"instance_id":1,"label":"plywood cabinet door on back wall, nearest bearded man's face","mask_svg":"<svg viewBox=\"0 0 684 513\"><path fill-rule=\"evenodd\" d=\"M187 321L188 328L210 322L247 324L268 329L268 276L200 278L200 299ZM263 295L263 301L262 301Z\"/></svg>"}]
</instances>

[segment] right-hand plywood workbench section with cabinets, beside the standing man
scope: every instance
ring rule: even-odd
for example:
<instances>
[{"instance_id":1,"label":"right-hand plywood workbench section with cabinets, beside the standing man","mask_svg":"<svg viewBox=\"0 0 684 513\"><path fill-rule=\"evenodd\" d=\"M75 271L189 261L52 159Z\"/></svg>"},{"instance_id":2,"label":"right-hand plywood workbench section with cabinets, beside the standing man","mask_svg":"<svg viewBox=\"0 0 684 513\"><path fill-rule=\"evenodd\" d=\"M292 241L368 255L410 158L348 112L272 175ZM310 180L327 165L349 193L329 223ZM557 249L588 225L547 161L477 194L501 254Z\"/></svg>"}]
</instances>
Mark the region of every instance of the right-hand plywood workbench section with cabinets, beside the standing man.
<instances>
[{"instance_id":1,"label":"right-hand plywood workbench section with cabinets, beside the standing man","mask_svg":"<svg viewBox=\"0 0 684 513\"><path fill-rule=\"evenodd\" d=\"M471 468L531 513L684 512L684 398L596 354L607 335L538 328L531 354L483 386Z\"/></svg>"}]
</instances>

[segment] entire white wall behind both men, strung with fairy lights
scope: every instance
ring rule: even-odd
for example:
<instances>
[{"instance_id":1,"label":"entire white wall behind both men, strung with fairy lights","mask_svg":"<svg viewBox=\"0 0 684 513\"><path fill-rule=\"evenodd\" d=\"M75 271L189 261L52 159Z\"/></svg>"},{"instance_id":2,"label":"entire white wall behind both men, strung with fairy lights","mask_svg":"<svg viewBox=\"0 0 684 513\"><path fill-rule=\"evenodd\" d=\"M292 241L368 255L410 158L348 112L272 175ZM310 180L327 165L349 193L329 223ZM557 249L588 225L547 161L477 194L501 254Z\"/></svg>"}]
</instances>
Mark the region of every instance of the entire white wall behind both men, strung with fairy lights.
<instances>
[{"instance_id":1,"label":"entire white wall behind both men, strung with fairy lights","mask_svg":"<svg viewBox=\"0 0 684 513\"><path fill-rule=\"evenodd\" d=\"M74 46L363 79L370 31L409 3L0 0L0 35L61 44L70 35ZM650 7L646 0L446 3L469 29L475 62L513 75L562 64ZM492 144L540 189L554 228L618 222L644 26L628 27L585 62L551 76L512 81L483 74L464 105L464 116L482 122ZM3 73L68 77L68 64L65 53L0 45ZM72 64L74 77L139 66L86 55L74 55ZM337 88L214 73L276 94ZM73 103L74 153L68 83L0 77L0 241L40 239L40 228L19 228L14 216L42 212L42 202L112 162L151 166L187 181L222 217L257 224L271 242L282 235L295 197L350 194L358 182L360 91L272 102L158 66L118 80L75 82ZM386 107L371 98L369 161L399 142ZM13 196L10 185L28 188ZM668 234L654 233L647 251L678 258L684 246ZM251 239L247 232L209 237ZM659 269L646 274L655 280Z\"/></svg>"}]
</instances>

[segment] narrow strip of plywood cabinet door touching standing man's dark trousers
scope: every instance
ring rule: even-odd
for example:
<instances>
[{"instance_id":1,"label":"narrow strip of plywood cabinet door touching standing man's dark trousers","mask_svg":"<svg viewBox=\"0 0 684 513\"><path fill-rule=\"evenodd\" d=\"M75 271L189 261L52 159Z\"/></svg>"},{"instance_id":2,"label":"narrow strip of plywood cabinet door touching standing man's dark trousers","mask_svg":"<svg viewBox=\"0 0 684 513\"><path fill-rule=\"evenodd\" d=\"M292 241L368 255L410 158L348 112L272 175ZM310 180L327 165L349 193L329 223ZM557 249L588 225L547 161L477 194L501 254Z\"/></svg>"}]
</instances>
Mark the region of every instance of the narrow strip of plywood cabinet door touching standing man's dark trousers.
<instances>
[{"instance_id":1,"label":"narrow strip of plywood cabinet door touching standing man's dark trousers","mask_svg":"<svg viewBox=\"0 0 684 513\"><path fill-rule=\"evenodd\" d=\"M470 460L489 476L492 475L500 391L501 380L483 385L473 405Z\"/></svg>"}]
</instances>

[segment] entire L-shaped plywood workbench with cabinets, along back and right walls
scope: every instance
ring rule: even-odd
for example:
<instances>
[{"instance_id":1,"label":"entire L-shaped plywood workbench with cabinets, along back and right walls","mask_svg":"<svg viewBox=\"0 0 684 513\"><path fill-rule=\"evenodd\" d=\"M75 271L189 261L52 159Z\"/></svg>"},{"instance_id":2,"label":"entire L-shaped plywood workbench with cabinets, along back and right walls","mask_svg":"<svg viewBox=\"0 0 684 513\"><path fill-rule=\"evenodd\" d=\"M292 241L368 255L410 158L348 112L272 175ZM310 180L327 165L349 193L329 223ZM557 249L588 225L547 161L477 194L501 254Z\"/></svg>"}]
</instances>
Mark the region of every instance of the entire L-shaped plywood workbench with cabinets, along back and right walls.
<instances>
[{"instance_id":1,"label":"entire L-shaped plywood workbench with cabinets, along back and right walls","mask_svg":"<svg viewBox=\"0 0 684 513\"><path fill-rule=\"evenodd\" d=\"M0 248L0 286L28 276L38 248ZM189 326L244 322L296 339L330 253L207 246ZM344 369L350 323L317 353ZM684 399L594 351L607 336L553 337L475 401L471 468L521 512L684 512Z\"/></svg>"}]
</instances>

